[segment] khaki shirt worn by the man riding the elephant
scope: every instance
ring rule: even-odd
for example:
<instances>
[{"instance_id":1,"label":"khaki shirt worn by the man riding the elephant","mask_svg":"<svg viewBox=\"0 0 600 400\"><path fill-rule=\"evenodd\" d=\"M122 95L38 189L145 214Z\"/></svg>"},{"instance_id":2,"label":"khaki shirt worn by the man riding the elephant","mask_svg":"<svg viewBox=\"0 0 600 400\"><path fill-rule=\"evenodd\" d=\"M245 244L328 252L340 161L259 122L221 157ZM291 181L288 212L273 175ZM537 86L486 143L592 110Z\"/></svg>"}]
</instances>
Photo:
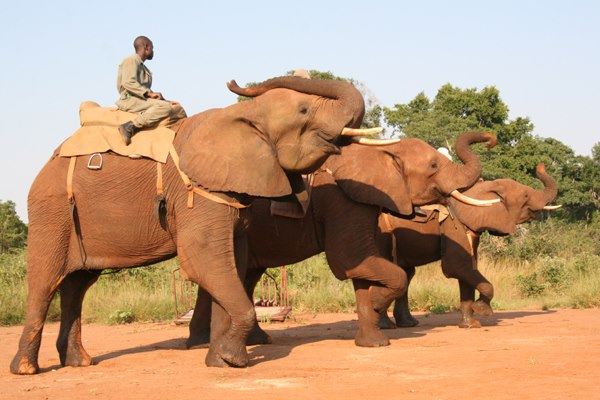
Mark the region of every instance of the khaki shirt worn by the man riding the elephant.
<instances>
[{"instance_id":1,"label":"khaki shirt worn by the man riding the elephant","mask_svg":"<svg viewBox=\"0 0 600 400\"><path fill-rule=\"evenodd\" d=\"M121 100L130 96L144 99L151 86L152 72L139 55L131 55L121 62L117 75L117 91Z\"/></svg>"}]
</instances>

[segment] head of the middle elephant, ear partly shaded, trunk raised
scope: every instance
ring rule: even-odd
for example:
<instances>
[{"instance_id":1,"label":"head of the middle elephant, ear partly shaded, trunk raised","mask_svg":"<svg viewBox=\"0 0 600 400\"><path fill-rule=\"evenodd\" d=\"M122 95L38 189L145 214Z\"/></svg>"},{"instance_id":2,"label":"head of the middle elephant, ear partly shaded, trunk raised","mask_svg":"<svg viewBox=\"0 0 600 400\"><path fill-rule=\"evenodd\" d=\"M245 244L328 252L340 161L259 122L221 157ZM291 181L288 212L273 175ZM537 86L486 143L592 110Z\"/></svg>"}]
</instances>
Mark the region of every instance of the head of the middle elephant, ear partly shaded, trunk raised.
<instances>
[{"instance_id":1,"label":"head of the middle elephant, ear partly shaded, trunk raised","mask_svg":"<svg viewBox=\"0 0 600 400\"><path fill-rule=\"evenodd\" d=\"M344 147L326 166L353 200L411 215L414 206L444 201L479 179L481 164L469 146L480 142L492 147L496 138L482 132L459 136L455 149L464 165L453 163L420 139L409 138L386 146Z\"/></svg>"}]
</instances>

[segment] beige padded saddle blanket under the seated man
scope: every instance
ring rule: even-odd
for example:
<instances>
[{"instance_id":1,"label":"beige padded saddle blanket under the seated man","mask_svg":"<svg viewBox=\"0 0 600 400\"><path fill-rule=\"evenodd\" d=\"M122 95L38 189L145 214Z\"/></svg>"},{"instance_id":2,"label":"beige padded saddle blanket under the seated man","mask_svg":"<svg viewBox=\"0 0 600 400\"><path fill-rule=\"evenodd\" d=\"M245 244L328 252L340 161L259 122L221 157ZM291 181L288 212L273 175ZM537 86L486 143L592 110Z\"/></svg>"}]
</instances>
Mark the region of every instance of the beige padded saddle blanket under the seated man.
<instances>
[{"instance_id":1,"label":"beige padded saddle blanket under the seated man","mask_svg":"<svg viewBox=\"0 0 600 400\"><path fill-rule=\"evenodd\" d=\"M131 157L147 157L165 163L175 132L168 128L172 120L162 121L156 128L137 133L126 146L121 139L118 126L135 118L135 114L119 111L116 108L100 107L86 101L79 108L81 128L69 137L60 147L61 157L82 156L104 153L109 150Z\"/></svg>"}]
</instances>

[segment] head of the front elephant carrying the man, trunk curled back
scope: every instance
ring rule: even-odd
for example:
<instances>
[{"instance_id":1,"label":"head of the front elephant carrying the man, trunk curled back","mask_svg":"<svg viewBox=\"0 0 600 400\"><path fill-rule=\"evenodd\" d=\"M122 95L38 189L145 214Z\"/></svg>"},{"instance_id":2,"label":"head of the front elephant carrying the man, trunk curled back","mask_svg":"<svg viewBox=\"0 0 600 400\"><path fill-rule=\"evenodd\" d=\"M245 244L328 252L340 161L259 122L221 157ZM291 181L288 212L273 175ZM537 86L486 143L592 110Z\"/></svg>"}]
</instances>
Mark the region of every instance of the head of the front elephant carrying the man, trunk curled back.
<instances>
[{"instance_id":1,"label":"head of the front elephant carrying the man, trunk curled back","mask_svg":"<svg viewBox=\"0 0 600 400\"><path fill-rule=\"evenodd\" d=\"M181 169L213 191L281 197L288 177L319 168L344 128L360 126L362 95L346 82L286 76L257 86L227 85L251 97L184 122ZM286 175L287 174L287 175Z\"/></svg>"}]
</instances>

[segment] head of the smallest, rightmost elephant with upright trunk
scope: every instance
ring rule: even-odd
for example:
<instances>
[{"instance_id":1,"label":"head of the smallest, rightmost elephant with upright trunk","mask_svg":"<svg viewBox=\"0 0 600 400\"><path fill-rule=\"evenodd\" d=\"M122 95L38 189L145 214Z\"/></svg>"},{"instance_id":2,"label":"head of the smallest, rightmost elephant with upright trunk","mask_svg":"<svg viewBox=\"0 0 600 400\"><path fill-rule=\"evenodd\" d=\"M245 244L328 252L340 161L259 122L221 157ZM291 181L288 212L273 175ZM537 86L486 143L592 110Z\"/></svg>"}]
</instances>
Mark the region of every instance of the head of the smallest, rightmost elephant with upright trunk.
<instances>
[{"instance_id":1,"label":"head of the smallest, rightmost elephant with upright trunk","mask_svg":"<svg viewBox=\"0 0 600 400\"><path fill-rule=\"evenodd\" d=\"M475 232L489 231L504 236L513 234L518 224L531 221L542 210L555 210L549 206L558 193L556 182L546 173L544 164L538 164L536 175L544 189L536 190L513 179L496 179L476 183L465 194L481 199L500 198L491 207L477 208L454 200L451 206L458 219Z\"/></svg>"}]
</instances>

